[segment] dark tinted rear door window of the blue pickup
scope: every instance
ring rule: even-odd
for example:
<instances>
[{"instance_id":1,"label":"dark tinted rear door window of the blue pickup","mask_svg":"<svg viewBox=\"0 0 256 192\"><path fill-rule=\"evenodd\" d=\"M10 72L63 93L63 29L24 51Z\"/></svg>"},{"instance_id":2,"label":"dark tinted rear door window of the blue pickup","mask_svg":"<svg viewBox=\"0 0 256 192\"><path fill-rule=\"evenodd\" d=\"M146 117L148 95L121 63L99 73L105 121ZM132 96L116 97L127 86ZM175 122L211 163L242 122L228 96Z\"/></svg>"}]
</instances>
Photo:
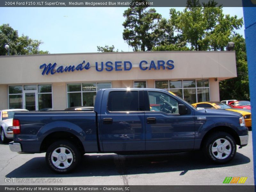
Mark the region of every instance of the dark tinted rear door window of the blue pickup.
<instances>
[{"instance_id":1,"label":"dark tinted rear door window of the blue pickup","mask_svg":"<svg viewBox=\"0 0 256 192\"><path fill-rule=\"evenodd\" d=\"M139 111L138 91L112 91L108 96L109 111Z\"/></svg>"}]
</instances>

